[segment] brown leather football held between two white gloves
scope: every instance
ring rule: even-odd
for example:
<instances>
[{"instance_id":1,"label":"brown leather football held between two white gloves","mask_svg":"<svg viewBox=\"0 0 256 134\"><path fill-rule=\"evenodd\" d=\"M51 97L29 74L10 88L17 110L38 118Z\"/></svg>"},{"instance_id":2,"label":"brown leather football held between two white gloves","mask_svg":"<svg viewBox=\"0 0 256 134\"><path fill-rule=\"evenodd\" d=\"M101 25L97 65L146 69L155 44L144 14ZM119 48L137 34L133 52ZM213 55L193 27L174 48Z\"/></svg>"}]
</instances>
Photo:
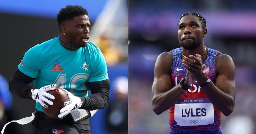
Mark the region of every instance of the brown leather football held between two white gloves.
<instances>
[{"instance_id":1,"label":"brown leather football held between two white gloves","mask_svg":"<svg viewBox=\"0 0 256 134\"><path fill-rule=\"evenodd\" d=\"M49 99L53 102L53 105L49 105L49 109L43 107L44 114L51 118L57 118L60 114L60 109L64 107L64 102L68 100L66 92L60 88L56 87L55 90L48 91L51 95L55 97L54 100Z\"/></svg>"}]
</instances>

